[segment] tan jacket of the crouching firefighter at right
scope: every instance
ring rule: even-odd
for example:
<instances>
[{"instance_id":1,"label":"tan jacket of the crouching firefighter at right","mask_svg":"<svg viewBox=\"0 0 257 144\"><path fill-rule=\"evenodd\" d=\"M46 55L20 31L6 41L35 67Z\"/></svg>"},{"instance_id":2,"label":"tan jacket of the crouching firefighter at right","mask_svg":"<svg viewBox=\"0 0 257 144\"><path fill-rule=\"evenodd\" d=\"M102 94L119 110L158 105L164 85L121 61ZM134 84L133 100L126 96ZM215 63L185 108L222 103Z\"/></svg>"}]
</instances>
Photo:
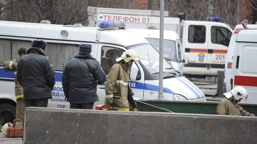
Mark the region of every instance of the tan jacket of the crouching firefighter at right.
<instances>
[{"instance_id":1,"label":"tan jacket of the crouching firefighter at right","mask_svg":"<svg viewBox=\"0 0 257 144\"><path fill-rule=\"evenodd\" d=\"M255 116L232 102L232 98L223 98L217 105L216 114L232 116Z\"/></svg>"}]
</instances>

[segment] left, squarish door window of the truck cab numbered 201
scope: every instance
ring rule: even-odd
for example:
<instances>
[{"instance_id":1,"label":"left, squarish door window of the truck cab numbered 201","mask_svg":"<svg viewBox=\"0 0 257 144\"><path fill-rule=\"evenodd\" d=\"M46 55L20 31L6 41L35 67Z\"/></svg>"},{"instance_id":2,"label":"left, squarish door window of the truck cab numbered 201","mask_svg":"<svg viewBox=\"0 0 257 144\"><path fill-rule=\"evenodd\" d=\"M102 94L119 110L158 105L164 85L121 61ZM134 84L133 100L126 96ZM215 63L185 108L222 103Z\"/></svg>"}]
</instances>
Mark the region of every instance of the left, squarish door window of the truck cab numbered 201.
<instances>
[{"instance_id":1,"label":"left, squarish door window of the truck cab numbered 201","mask_svg":"<svg viewBox=\"0 0 257 144\"><path fill-rule=\"evenodd\" d=\"M206 35L205 26L190 25L188 27L188 42L204 43Z\"/></svg>"}]
</instances>

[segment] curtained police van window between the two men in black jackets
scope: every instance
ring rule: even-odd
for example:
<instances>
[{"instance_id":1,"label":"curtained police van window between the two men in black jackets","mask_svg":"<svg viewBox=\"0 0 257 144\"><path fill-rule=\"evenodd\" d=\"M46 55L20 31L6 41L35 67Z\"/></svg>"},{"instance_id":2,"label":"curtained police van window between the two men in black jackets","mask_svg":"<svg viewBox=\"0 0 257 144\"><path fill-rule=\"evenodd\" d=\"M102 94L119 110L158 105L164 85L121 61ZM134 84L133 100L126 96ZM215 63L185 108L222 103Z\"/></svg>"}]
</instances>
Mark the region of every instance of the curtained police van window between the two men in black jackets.
<instances>
[{"instance_id":1,"label":"curtained police van window between the two men in black jackets","mask_svg":"<svg viewBox=\"0 0 257 144\"><path fill-rule=\"evenodd\" d=\"M45 55L51 59L53 68L63 71L67 60L79 53L78 45L47 43Z\"/></svg>"}]
</instances>

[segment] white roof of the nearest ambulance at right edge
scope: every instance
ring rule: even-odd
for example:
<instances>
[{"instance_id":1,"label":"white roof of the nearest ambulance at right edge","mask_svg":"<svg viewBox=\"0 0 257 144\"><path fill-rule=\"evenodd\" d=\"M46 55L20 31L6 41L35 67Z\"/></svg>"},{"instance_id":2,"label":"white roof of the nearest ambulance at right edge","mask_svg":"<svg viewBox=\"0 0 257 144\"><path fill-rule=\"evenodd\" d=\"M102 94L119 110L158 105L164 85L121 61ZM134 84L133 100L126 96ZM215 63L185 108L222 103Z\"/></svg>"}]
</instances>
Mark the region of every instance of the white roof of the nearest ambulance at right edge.
<instances>
[{"instance_id":1,"label":"white roof of the nearest ambulance at right edge","mask_svg":"<svg viewBox=\"0 0 257 144\"><path fill-rule=\"evenodd\" d=\"M236 42L257 42L257 30L241 30L236 38Z\"/></svg>"}]
</instances>

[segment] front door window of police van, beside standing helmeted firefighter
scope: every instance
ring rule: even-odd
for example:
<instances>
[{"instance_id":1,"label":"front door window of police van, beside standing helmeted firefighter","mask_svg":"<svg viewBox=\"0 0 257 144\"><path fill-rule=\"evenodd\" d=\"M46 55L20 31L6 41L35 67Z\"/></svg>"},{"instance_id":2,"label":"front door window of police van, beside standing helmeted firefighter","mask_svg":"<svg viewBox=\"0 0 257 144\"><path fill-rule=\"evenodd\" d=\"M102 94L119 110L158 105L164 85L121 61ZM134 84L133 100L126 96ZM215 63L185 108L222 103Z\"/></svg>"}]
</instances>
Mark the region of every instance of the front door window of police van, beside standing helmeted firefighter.
<instances>
[{"instance_id":1,"label":"front door window of police van, beside standing helmeted firefighter","mask_svg":"<svg viewBox=\"0 0 257 144\"><path fill-rule=\"evenodd\" d=\"M125 52L122 49L112 48L103 46L101 49L101 67L103 68L106 75L108 75L111 67L117 63L115 59L121 57L122 53Z\"/></svg>"}]
</instances>

